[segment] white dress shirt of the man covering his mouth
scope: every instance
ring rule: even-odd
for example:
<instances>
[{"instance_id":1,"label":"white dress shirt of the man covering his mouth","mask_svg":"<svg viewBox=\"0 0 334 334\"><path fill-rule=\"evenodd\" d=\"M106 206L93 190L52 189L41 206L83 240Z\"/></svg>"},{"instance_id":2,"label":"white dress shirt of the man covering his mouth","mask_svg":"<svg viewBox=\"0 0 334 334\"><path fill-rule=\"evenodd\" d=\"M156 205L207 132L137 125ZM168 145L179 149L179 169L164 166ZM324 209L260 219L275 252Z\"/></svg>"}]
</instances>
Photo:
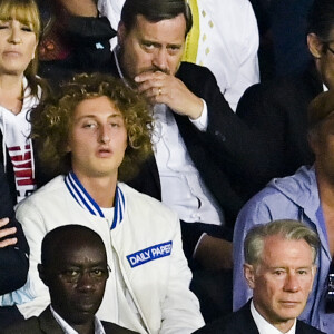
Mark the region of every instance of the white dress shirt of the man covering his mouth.
<instances>
[{"instance_id":1,"label":"white dress shirt of the man covering his mouth","mask_svg":"<svg viewBox=\"0 0 334 334\"><path fill-rule=\"evenodd\" d=\"M204 105L202 116L190 119L199 130L207 128L207 107ZM154 118L153 143L163 203L177 212L184 222L222 225L223 213L194 166L173 112L166 105L156 105Z\"/></svg>"}]
</instances>

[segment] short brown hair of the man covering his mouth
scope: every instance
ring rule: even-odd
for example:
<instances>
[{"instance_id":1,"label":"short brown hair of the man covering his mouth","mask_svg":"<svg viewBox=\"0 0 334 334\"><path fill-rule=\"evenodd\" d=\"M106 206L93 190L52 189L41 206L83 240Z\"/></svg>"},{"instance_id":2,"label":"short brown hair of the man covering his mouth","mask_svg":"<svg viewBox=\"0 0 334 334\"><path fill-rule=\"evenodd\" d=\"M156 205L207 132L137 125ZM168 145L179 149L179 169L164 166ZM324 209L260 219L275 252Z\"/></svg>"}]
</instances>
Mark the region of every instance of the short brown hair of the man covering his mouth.
<instances>
[{"instance_id":1,"label":"short brown hair of the man covering his mouth","mask_svg":"<svg viewBox=\"0 0 334 334\"><path fill-rule=\"evenodd\" d=\"M174 19L184 14L186 19L186 36L193 27L191 10L185 0L126 0L120 20L127 30L131 30L138 14L150 22Z\"/></svg>"}]
</instances>

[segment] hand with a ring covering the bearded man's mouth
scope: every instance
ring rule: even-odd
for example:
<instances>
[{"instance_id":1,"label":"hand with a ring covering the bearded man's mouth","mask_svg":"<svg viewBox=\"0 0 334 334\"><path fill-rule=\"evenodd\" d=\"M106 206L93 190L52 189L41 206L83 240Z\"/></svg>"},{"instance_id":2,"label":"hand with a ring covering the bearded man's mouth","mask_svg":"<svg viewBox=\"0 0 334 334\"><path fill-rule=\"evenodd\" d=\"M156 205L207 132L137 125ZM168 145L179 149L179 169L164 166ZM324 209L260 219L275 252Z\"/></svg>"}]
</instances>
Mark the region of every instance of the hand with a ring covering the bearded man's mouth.
<instances>
[{"instance_id":1,"label":"hand with a ring covering the bearded man's mouth","mask_svg":"<svg viewBox=\"0 0 334 334\"><path fill-rule=\"evenodd\" d=\"M153 105L165 104L173 111L191 119L200 117L204 108L202 99L178 78L161 71L149 71L136 76L135 81L138 84L138 91Z\"/></svg>"}]
</instances>

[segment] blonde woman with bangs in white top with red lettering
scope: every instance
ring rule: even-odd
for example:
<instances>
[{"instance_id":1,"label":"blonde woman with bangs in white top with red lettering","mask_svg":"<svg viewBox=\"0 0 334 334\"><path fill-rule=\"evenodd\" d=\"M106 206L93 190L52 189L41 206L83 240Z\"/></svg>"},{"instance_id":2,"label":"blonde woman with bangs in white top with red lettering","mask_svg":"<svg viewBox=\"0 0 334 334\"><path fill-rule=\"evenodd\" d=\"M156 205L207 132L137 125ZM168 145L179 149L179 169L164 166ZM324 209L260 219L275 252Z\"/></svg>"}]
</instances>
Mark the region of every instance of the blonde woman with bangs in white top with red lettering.
<instances>
[{"instance_id":1,"label":"blonde woman with bangs in white top with red lettering","mask_svg":"<svg viewBox=\"0 0 334 334\"><path fill-rule=\"evenodd\" d=\"M28 118L42 90L36 75L39 35L33 0L0 0L0 164L13 203L36 189Z\"/></svg>"}]
</instances>

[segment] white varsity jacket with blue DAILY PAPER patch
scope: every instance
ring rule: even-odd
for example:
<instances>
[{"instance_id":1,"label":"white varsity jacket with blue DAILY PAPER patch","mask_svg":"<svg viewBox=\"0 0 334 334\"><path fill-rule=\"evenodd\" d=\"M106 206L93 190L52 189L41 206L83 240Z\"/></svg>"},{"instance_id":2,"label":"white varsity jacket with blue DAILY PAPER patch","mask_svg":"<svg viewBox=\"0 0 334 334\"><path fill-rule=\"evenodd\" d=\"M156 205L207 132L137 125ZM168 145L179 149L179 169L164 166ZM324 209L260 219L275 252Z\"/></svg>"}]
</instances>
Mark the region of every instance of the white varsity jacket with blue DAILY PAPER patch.
<instances>
[{"instance_id":1,"label":"white varsity jacket with blue DAILY PAPER patch","mask_svg":"<svg viewBox=\"0 0 334 334\"><path fill-rule=\"evenodd\" d=\"M101 236L108 263L114 247L141 324L122 305L118 305L118 318L112 315L112 279L107 281L97 313L100 320L139 333L193 333L204 325L198 301L189 291L191 273L183 253L179 220L156 199L118 184L109 228L99 206L76 175L69 174L56 177L24 199L17 208L17 218L30 246L30 269L27 284L3 296L2 305L18 304L24 317L39 314L48 305L48 289L37 272L41 240L57 226L80 224Z\"/></svg>"}]
</instances>

